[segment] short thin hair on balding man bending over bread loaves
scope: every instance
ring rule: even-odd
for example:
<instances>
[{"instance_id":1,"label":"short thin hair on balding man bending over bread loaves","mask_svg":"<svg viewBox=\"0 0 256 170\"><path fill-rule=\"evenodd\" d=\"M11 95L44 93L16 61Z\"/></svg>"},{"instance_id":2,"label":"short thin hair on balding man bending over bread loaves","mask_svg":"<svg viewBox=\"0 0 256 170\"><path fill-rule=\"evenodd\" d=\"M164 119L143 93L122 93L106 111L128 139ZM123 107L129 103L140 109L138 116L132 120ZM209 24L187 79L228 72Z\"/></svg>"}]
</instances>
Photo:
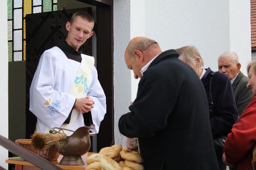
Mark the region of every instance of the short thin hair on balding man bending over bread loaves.
<instances>
[{"instance_id":1,"label":"short thin hair on balding man bending over bread loaves","mask_svg":"<svg viewBox=\"0 0 256 170\"><path fill-rule=\"evenodd\" d=\"M133 44L130 44L130 46L128 46L128 48L127 48L127 52L128 52L128 55L134 61L135 58L134 58L133 53L135 50L139 50L139 51L143 52L150 46L156 46L159 48L158 43L155 40L146 38L146 39L141 39L140 41L135 42Z\"/></svg>"}]
</instances>

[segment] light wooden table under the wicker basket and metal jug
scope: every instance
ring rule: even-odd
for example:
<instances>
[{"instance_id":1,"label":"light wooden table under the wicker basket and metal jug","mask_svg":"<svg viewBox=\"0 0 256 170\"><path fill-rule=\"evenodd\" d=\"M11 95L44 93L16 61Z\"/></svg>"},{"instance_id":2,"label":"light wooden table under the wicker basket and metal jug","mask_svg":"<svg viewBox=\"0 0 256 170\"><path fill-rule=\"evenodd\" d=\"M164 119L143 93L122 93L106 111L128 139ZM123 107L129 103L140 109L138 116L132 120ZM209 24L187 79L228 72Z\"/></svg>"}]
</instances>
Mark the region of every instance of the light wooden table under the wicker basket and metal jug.
<instances>
[{"instance_id":1,"label":"light wooden table under the wicker basket and metal jug","mask_svg":"<svg viewBox=\"0 0 256 170\"><path fill-rule=\"evenodd\" d=\"M88 152L88 156L91 154L95 154L92 152ZM15 170L41 170L37 166L33 165L32 163L28 161L24 161L20 157L15 157L13 159L6 159L6 163L15 164ZM64 170L85 170L85 165L59 165L57 161L52 162L53 164L59 166L60 168Z\"/></svg>"}]
</instances>

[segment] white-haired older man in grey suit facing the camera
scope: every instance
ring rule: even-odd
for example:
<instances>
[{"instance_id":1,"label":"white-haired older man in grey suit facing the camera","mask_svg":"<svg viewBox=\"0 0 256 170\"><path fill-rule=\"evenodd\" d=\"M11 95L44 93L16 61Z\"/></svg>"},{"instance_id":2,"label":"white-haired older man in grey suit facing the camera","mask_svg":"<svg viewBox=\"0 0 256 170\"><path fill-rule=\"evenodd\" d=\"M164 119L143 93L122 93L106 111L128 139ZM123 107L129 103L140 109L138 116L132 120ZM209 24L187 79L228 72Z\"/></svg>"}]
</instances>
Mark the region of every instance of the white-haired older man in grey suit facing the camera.
<instances>
[{"instance_id":1,"label":"white-haired older man in grey suit facing the camera","mask_svg":"<svg viewBox=\"0 0 256 170\"><path fill-rule=\"evenodd\" d=\"M252 99L252 91L246 87L248 77L241 71L241 64L238 56L234 52L225 52L218 58L219 71L228 76L234 90L234 97L238 114L241 115L245 107Z\"/></svg>"}]
</instances>

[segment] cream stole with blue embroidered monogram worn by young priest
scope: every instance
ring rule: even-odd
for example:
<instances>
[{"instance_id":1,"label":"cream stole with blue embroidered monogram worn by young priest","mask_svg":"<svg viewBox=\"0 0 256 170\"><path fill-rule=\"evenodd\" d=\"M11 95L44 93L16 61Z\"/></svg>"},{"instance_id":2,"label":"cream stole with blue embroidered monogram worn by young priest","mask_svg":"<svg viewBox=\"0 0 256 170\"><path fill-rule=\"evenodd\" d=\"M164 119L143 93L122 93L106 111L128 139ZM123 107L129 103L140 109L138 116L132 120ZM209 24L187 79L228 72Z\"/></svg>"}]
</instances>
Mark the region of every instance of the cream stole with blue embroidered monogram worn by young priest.
<instances>
[{"instance_id":1,"label":"cream stole with blue embroidered monogram worn by young priest","mask_svg":"<svg viewBox=\"0 0 256 170\"><path fill-rule=\"evenodd\" d=\"M76 97L76 99L86 97L89 87L91 86L92 82L92 69L94 66L94 58L91 56L86 56L82 59L80 68L76 74L76 79L74 80L72 86L69 89L69 94ZM74 108L71 113L70 122L69 124L63 123L60 128L71 129L72 125L74 124L76 118L80 110ZM51 130L48 126L45 128L44 133L49 133ZM39 132L39 125L36 124L36 132ZM70 131L64 130L64 133L68 135Z\"/></svg>"}]
</instances>

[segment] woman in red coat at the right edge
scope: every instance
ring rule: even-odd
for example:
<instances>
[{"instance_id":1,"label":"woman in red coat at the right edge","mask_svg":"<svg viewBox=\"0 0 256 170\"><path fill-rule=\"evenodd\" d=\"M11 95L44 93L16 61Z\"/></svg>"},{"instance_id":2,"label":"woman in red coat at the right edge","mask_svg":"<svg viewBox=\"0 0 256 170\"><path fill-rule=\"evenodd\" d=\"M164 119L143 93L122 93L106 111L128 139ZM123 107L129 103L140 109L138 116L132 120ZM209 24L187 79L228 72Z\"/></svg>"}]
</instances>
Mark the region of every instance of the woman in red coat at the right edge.
<instances>
[{"instance_id":1,"label":"woman in red coat at the right edge","mask_svg":"<svg viewBox=\"0 0 256 170\"><path fill-rule=\"evenodd\" d=\"M252 150L256 144L256 61L247 66L249 82L252 89L252 101L234 124L225 142L223 162L233 165L235 170L253 170Z\"/></svg>"}]
</instances>

